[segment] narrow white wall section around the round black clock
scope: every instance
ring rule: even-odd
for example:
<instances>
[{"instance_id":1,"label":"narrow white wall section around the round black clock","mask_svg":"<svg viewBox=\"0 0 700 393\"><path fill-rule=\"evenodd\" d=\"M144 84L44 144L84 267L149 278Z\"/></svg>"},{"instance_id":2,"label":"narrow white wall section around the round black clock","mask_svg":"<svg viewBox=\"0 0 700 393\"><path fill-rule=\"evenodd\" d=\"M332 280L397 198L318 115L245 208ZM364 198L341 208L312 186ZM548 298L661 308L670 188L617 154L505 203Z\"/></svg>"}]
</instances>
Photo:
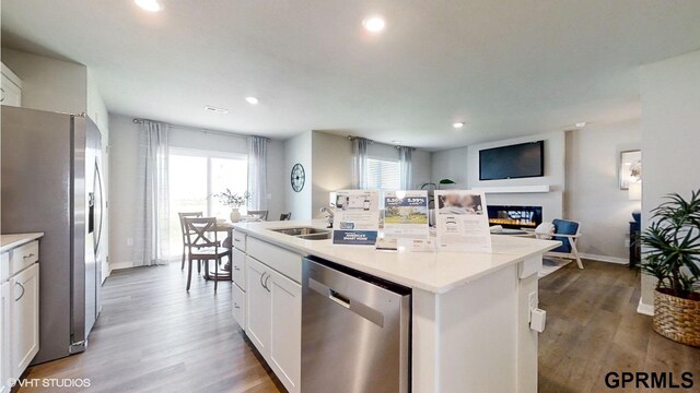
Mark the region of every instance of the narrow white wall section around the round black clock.
<instances>
[{"instance_id":1,"label":"narrow white wall section around the round black clock","mask_svg":"<svg viewBox=\"0 0 700 393\"><path fill-rule=\"evenodd\" d=\"M284 209L292 212L292 219L311 219L312 212L312 131L305 131L284 142ZM306 182L301 192L294 192L289 176L294 164L301 164L306 172Z\"/></svg>"}]
</instances>

